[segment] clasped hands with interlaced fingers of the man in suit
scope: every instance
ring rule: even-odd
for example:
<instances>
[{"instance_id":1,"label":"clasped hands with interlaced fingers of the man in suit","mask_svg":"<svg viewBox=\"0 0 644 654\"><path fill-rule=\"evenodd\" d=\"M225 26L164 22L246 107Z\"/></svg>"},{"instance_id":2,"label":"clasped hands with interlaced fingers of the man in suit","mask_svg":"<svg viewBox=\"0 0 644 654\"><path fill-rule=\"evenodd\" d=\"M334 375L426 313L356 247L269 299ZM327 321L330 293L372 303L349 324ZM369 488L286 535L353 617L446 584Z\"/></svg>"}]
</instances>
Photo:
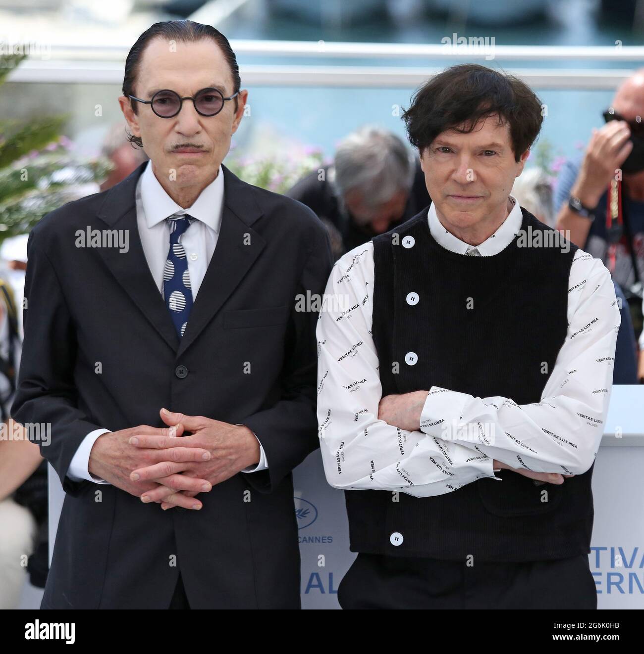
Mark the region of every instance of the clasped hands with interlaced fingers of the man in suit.
<instances>
[{"instance_id":1,"label":"clasped hands with interlaced fingers of the man in suit","mask_svg":"<svg viewBox=\"0 0 644 654\"><path fill-rule=\"evenodd\" d=\"M90 473L164 510L199 510L197 494L259 462L259 442L246 426L166 409L159 415L166 428L142 425L99 436Z\"/></svg>"}]
</instances>

